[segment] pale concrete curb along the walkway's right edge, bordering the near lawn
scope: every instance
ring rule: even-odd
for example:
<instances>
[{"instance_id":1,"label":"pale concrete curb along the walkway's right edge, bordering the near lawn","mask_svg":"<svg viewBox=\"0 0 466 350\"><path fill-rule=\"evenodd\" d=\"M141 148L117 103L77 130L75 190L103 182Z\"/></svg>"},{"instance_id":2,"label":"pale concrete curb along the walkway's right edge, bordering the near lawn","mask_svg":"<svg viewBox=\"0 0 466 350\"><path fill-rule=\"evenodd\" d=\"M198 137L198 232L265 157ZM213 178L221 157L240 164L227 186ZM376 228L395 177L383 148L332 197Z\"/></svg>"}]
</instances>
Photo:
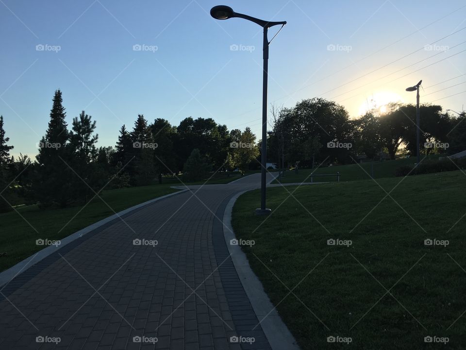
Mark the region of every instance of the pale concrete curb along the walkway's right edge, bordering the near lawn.
<instances>
[{"instance_id":1,"label":"pale concrete curb along the walkway's right edge, bordering the near lawn","mask_svg":"<svg viewBox=\"0 0 466 350\"><path fill-rule=\"evenodd\" d=\"M248 190L249 191L249 190ZM300 350L295 338L283 323L277 310L270 302L261 281L252 272L246 254L239 245L230 245L230 240L235 238L232 227L233 205L238 197L248 191L236 193L228 202L223 214L223 224L227 229L223 230L225 242L231 254L233 265L248 295L252 308L261 322L262 329L273 350ZM272 311L270 311L272 310Z\"/></svg>"}]
</instances>

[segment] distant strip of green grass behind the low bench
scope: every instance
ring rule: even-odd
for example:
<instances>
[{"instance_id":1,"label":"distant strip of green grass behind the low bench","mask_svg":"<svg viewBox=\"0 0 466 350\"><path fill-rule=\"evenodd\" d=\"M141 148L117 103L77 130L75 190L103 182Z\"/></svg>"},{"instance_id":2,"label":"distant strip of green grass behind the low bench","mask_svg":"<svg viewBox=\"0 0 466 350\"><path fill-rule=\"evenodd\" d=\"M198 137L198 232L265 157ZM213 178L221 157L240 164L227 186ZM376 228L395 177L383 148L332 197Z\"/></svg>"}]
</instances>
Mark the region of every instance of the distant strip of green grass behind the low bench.
<instances>
[{"instance_id":1,"label":"distant strip of green grass behind the low bench","mask_svg":"<svg viewBox=\"0 0 466 350\"><path fill-rule=\"evenodd\" d=\"M429 156L427 159L436 159L437 156ZM422 157L421 157L422 159ZM319 167L317 169L299 169L298 174L292 171L285 172L285 176L282 179L282 183L293 183L293 182L311 182L309 175L314 171L314 174L335 174L334 176L317 176L314 177L314 182L327 182L336 181L336 173L341 174L340 181L354 181L354 180L365 180L370 179L372 175L372 169L374 171L374 178L382 177L394 177L397 168L403 165L414 165L416 163L416 157L400 158L397 160L384 160L374 161L363 164L349 164L349 165L338 165L332 167ZM275 180L272 183L279 183Z\"/></svg>"}]
</instances>

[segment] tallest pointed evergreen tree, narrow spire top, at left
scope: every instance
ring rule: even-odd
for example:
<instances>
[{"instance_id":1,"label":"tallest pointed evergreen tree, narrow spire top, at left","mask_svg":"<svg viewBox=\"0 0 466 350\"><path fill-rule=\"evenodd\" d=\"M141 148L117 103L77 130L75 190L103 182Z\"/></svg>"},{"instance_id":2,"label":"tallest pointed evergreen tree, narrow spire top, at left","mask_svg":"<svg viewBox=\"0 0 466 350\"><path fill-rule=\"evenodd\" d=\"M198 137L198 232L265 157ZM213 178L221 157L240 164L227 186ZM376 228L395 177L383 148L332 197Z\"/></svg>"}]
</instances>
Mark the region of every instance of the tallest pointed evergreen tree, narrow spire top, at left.
<instances>
[{"instance_id":1,"label":"tallest pointed evergreen tree, narrow spire top, at left","mask_svg":"<svg viewBox=\"0 0 466 350\"><path fill-rule=\"evenodd\" d=\"M70 179L75 175L68 167L71 157L67 149L69 132L65 117L62 92L56 90L49 127L39 143L39 154L36 156L38 166L33 192L41 207L53 204L65 207L72 197Z\"/></svg>"}]
</instances>

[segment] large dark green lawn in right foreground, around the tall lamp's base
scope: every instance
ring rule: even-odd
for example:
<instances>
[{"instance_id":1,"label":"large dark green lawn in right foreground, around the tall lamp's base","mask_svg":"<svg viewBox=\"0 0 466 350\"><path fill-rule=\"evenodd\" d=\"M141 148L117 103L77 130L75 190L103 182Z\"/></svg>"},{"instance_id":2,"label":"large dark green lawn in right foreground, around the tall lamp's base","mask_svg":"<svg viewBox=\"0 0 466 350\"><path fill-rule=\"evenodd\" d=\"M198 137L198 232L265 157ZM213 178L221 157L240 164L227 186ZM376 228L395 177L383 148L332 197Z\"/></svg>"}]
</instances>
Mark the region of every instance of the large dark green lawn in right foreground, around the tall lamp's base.
<instances>
[{"instance_id":1,"label":"large dark green lawn in right foreground, around the tall lamp's base","mask_svg":"<svg viewBox=\"0 0 466 350\"><path fill-rule=\"evenodd\" d=\"M377 182L398 204L380 202L386 193L373 180L276 187L265 221L253 214L260 192L240 196L233 228L255 241L243 249L302 349L465 349L465 174ZM428 238L449 245L426 246ZM429 335L449 343L424 343Z\"/></svg>"}]
</instances>

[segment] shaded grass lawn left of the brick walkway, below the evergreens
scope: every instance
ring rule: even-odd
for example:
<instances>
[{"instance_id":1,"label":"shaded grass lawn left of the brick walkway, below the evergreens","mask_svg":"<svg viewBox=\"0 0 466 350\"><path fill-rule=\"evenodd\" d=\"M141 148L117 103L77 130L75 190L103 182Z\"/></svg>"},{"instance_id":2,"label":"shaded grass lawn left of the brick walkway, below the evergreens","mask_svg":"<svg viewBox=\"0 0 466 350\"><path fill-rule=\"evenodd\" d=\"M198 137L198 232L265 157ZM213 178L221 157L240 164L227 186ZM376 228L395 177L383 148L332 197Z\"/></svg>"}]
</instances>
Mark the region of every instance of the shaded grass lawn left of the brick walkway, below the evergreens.
<instances>
[{"instance_id":1,"label":"shaded grass lawn left of the brick walkway, below the evergreens","mask_svg":"<svg viewBox=\"0 0 466 350\"><path fill-rule=\"evenodd\" d=\"M172 185L162 184L103 191L102 199L110 208L118 212L150 199L179 191L170 186ZM95 198L82 211L80 211L82 207L39 210L36 205L31 205L18 207L19 214L16 211L1 213L0 271L43 249L44 246L35 245L35 240L38 238L59 240L113 215L114 211L108 206L100 198Z\"/></svg>"}]
</instances>

